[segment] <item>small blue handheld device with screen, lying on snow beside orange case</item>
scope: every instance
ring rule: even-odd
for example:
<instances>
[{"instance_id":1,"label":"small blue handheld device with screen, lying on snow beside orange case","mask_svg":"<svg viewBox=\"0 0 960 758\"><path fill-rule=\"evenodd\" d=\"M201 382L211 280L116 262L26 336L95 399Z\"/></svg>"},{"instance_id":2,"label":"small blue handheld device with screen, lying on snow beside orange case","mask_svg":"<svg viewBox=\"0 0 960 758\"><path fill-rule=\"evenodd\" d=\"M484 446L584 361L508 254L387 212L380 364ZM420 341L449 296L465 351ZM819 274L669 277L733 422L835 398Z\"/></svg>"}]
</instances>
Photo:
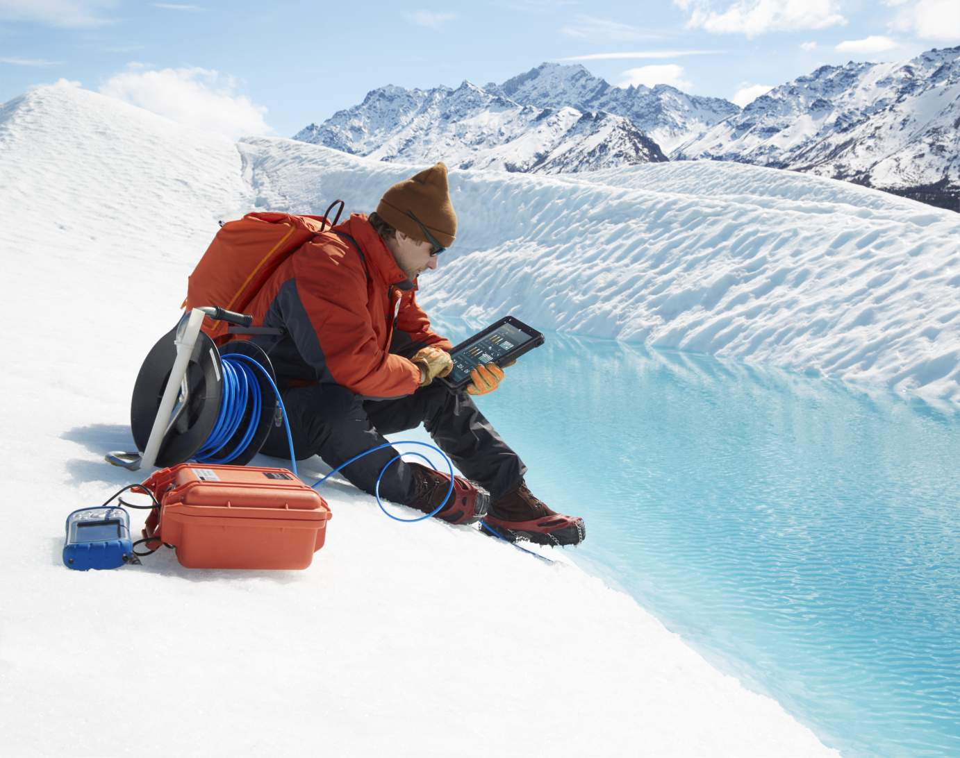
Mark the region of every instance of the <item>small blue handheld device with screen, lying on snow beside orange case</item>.
<instances>
[{"instance_id":1,"label":"small blue handheld device with screen, lying on snow beside orange case","mask_svg":"<svg viewBox=\"0 0 960 758\"><path fill-rule=\"evenodd\" d=\"M130 514L122 508L84 508L66 517L63 565L67 568L118 568L133 562Z\"/></svg>"}]
</instances>

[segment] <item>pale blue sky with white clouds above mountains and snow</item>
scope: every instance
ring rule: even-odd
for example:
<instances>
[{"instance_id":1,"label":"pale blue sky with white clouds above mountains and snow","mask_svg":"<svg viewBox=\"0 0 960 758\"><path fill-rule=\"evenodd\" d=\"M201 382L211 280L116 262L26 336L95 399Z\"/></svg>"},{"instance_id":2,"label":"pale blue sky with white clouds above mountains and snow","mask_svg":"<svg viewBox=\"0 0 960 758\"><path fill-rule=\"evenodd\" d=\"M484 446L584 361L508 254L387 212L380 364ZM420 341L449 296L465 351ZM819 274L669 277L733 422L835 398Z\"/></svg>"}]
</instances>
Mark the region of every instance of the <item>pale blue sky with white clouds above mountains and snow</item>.
<instances>
[{"instance_id":1,"label":"pale blue sky with white clouds above mountains and snow","mask_svg":"<svg viewBox=\"0 0 960 758\"><path fill-rule=\"evenodd\" d=\"M956 44L960 0L0 0L0 102L67 79L201 126L290 136L386 83L499 83L544 60L742 104L825 63Z\"/></svg>"}]
</instances>

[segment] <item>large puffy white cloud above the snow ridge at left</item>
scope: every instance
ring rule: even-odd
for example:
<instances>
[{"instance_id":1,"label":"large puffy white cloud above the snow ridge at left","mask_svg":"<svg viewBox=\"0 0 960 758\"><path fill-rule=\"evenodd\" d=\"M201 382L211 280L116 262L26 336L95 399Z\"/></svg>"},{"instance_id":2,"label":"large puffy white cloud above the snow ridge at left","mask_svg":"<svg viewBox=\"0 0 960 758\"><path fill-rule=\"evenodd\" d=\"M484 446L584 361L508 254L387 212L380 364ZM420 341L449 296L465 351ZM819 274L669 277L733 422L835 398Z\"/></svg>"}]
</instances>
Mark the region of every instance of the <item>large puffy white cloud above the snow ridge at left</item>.
<instances>
[{"instance_id":1,"label":"large puffy white cloud above the snow ridge at left","mask_svg":"<svg viewBox=\"0 0 960 758\"><path fill-rule=\"evenodd\" d=\"M236 94L229 76L205 68L147 69L132 63L100 87L101 93L152 110L195 129L216 131L231 139L264 134L270 127L267 108Z\"/></svg>"}]
</instances>

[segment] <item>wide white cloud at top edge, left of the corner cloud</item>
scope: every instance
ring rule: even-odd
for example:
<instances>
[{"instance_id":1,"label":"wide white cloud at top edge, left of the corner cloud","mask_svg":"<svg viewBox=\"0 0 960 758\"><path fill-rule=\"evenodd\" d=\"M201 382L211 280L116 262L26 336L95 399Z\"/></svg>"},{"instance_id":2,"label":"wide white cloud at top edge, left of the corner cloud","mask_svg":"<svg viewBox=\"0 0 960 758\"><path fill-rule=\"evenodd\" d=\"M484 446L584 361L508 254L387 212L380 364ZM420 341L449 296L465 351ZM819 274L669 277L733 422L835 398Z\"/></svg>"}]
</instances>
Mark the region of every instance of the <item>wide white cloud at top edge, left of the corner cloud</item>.
<instances>
[{"instance_id":1,"label":"wide white cloud at top edge, left of the corner cloud","mask_svg":"<svg viewBox=\"0 0 960 758\"><path fill-rule=\"evenodd\" d=\"M687 27L712 34L763 35L767 32L799 32L843 26L839 0L735 0L714 11L712 0L674 0L689 13Z\"/></svg>"}]
</instances>

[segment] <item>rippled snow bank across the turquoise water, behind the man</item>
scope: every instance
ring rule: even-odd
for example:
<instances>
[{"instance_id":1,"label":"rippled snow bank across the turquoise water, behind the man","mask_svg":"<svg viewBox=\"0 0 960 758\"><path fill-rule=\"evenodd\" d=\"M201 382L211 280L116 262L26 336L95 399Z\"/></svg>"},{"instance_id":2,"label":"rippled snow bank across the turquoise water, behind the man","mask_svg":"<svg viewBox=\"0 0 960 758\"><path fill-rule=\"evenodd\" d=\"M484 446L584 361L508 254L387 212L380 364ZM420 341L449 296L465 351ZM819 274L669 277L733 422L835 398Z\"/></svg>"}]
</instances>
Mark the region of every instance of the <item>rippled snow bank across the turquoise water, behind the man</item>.
<instances>
[{"instance_id":1,"label":"rippled snow bank across the turquoise water, behind the man","mask_svg":"<svg viewBox=\"0 0 960 758\"><path fill-rule=\"evenodd\" d=\"M409 174L369 164L355 178L356 158L285 140L241 150L262 200L287 210L333 197L372 208ZM451 187L457 243L419 296L446 315L513 313L960 400L955 213L714 161L551 178L454 172Z\"/></svg>"}]
</instances>

